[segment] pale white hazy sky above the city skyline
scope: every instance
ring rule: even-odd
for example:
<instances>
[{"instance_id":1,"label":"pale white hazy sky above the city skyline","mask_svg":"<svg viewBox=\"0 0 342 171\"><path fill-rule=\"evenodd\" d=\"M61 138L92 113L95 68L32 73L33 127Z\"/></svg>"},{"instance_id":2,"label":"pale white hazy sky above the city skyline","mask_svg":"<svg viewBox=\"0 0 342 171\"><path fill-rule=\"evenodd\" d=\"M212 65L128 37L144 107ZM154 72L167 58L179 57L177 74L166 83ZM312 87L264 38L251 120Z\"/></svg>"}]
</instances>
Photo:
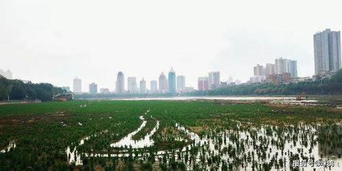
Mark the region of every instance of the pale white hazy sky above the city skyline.
<instances>
[{"instance_id":1,"label":"pale white hazy sky above the city skyline","mask_svg":"<svg viewBox=\"0 0 342 171\"><path fill-rule=\"evenodd\" d=\"M0 0L0 68L14 78L114 90L118 71L147 87L171 67L197 88L218 70L247 81L285 57L314 74L313 34L342 29L341 1ZM138 83L139 84L139 83Z\"/></svg>"}]
</instances>

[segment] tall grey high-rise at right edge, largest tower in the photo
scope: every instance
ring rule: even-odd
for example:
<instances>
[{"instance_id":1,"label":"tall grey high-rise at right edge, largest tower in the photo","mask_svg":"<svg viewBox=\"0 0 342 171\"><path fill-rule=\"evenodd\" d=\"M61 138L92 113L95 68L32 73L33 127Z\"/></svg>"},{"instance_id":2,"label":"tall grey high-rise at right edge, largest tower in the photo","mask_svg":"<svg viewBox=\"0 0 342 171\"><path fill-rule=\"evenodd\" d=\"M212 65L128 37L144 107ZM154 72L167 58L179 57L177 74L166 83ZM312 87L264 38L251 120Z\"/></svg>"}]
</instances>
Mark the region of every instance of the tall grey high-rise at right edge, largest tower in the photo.
<instances>
[{"instance_id":1,"label":"tall grey high-rise at right edge, largest tower in the photo","mask_svg":"<svg viewBox=\"0 0 342 171\"><path fill-rule=\"evenodd\" d=\"M315 75L327 71L336 72L341 68L340 31L326 29L313 35L315 55Z\"/></svg>"}]
</instances>

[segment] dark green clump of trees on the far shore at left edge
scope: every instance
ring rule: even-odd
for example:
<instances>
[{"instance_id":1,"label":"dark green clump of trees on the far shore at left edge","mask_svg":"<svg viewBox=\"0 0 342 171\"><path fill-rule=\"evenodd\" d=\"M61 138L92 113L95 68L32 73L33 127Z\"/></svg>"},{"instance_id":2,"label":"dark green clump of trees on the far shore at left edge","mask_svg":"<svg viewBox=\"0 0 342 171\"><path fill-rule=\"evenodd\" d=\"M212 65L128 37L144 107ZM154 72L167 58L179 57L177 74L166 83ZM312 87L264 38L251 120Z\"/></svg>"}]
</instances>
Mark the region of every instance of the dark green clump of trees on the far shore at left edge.
<instances>
[{"instance_id":1,"label":"dark green clump of trees on the far shore at left edge","mask_svg":"<svg viewBox=\"0 0 342 171\"><path fill-rule=\"evenodd\" d=\"M53 95L66 92L51 83L23 83L18 79L6 79L0 75L0 101L34 100L52 101Z\"/></svg>"}]
</instances>

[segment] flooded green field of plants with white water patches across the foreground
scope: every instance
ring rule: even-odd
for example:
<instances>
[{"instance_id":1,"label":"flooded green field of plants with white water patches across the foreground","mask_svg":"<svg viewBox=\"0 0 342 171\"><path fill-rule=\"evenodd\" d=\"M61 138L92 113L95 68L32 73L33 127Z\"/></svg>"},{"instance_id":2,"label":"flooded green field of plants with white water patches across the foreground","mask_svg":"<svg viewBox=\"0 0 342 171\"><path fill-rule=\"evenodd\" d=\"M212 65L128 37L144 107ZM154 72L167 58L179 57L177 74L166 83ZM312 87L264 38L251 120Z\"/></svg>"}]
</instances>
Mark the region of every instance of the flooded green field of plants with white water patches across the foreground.
<instances>
[{"instance_id":1,"label":"flooded green field of plants with white water patches across the foreground","mask_svg":"<svg viewBox=\"0 0 342 171\"><path fill-rule=\"evenodd\" d=\"M51 114L1 122L0 170L342 170L335 107L85 101Z\"/></svg>"}]
</instances>

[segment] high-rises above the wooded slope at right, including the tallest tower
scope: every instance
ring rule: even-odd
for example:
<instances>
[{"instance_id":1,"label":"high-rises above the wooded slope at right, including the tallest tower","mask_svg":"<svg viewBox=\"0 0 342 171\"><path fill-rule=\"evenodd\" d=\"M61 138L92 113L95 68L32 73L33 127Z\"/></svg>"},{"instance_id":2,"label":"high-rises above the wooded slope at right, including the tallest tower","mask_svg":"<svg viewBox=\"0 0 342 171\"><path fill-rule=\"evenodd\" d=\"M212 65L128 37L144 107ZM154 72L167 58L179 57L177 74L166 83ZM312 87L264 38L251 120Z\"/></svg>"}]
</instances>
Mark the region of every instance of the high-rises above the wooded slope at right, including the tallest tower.
<instances>
[{"instance_id":1,"label":"high-rises above the wooded slope at right, including the tallest tower","mask_svg":"<svg viewBox=\"0 0 342 171\"><path fill-rule=\"evenodd\" d=\"M298 77L297 61L282 57L275 64L254 66L254 76L248 83L271 82L298 83L300 81L315 81L331 77L341 68L341 36L340 31L326 29L313 35L315 75L313 77Z\"/></svg>"}]
</instances>

